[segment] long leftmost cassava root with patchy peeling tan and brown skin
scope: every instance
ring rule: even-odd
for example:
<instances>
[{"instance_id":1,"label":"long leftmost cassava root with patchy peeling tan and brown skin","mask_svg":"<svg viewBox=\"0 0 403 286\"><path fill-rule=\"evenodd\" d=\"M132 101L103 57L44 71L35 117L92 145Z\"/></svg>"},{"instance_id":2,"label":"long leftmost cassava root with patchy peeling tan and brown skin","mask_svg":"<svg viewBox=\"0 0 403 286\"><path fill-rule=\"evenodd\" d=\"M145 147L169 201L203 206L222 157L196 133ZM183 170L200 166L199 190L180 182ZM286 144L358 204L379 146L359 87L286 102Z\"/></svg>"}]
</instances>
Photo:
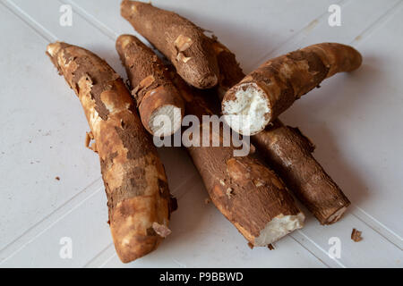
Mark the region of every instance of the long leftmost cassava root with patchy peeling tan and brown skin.
<instances>
[{"instance_id":1,"label":"long leftmost cassava root with patchy peeling tan and brown skin","mask_svg":"<svg viewBox=\"0 0 403 286\"><path fill-rule=\"evenodd\" d=\"M56 42L47 55L81 101L96 141L107 193L109 224L123 262L157 248L153 223L167 228L167 177L133 98L115 71L79 46Z\"/></svg>"}]
</instances>

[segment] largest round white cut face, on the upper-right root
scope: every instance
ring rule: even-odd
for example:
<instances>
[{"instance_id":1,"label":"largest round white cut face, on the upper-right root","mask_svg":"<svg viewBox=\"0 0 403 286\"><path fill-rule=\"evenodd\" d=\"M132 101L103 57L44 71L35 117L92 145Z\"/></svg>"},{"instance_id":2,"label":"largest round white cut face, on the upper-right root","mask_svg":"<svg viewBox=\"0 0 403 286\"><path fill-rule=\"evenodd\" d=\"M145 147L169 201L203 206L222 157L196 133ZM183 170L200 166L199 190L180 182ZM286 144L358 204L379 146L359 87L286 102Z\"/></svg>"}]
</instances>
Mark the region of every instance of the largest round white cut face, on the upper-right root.
<instances>
[{"instance_id":1,"label":"largest round white cut face, on the upper-right root","mask_svg":"<svg viewBox=\"0 0 403 286\"><path fill-rule=\"evenodd\" d=\"M269 101L263 90L254 83L245 83L233 92L234 98L223 102L227 124L236 132L253 135L269 123Z\"/></svg>"}]
</instances>

